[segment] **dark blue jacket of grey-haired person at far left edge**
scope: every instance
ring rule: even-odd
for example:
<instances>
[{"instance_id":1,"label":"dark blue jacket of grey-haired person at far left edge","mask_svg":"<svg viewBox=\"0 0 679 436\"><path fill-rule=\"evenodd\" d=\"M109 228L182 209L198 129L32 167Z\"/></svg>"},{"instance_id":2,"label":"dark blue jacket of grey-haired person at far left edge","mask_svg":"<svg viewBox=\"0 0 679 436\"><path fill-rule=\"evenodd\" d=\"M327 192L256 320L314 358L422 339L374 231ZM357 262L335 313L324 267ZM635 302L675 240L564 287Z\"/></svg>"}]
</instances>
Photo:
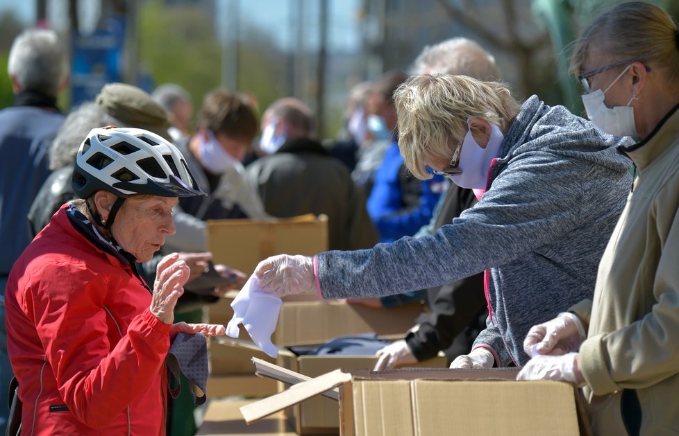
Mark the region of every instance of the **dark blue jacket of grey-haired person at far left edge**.
<instances>
[{"instance_id":1,"label":"dark blue jacket of grey-haired person at far left edge","mask_svg":"<svg viewBox=\"0 0 679 436\"><path fill-rule=\"evenodd\" d=\"M58 111L40 107L0 110L0 276L9 274L31 242L26 216L49 176L47 151L63 121Z\"/></svg>"}]
</instances>

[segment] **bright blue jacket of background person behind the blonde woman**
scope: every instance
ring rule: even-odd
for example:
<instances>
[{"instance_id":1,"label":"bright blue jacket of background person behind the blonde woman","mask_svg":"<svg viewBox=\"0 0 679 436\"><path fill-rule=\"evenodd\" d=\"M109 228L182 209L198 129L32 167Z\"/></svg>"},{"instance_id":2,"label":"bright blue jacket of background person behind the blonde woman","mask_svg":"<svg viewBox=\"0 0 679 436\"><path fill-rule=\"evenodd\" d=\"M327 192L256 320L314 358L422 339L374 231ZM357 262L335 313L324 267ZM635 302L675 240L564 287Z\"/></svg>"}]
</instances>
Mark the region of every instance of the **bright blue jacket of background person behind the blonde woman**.
<instances>
[{"instance_id":1,"label":"bright blue jacket of background person behind the blonde woman","mask_svg":"<svg viewBox=\"0 0 679 436\"><path fill-rule=\"evenodd\" d=\"M366 204L380 233L380 242L392 242L417 233L429 223L444 191L441 176L419 181L405 171L399 145L394 142L374 175L374 186Z\"/></svg>"}]
</instances>

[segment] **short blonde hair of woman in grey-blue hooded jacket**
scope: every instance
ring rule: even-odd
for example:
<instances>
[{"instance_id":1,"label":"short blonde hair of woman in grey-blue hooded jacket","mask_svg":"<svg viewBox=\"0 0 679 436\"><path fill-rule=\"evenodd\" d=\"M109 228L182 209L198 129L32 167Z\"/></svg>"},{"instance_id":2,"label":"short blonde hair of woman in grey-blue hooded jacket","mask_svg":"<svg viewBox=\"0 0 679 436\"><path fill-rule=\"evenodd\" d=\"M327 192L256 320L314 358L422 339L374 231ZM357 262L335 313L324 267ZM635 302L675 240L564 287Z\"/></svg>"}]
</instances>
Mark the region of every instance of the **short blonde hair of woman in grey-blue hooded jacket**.
<instances>
[{"instance_id":1,"label":"short blonde hair of woman in grey-blue hooded jacket","mask_svg":"<svg viewBox=\"0 0 679 436\"><path fill-rule=\"evenodd\" d=\"M468 76L412 76L394 93L399 118L399 149L408 171L420 180L428 157L450 159L464 139L467 120L483 118L507 132L519 113L519 103L501 82L481 82Z\"/></svg>"}]
</instances>

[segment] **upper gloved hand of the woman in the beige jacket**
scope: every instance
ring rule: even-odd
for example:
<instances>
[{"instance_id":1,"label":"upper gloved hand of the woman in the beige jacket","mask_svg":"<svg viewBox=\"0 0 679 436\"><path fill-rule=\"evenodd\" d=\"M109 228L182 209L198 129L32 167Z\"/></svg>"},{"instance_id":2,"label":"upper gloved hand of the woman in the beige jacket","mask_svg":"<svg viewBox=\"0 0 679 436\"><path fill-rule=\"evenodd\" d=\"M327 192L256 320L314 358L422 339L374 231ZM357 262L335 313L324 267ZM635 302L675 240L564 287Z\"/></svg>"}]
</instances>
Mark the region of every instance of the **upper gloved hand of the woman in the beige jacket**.
<instances>
[{"instance_id":1,"label":"upper gloved hand of the woman in the beige jacket","mask_svg":"<svg viewBox=\"0 0 679 436\"><path fill-rule=\"evenodd\" d=\"M585 326L578 315L562 312L553 320L531 327L523 340L523 351L530 357L535 354L561 356L578 351L586 337Z\"/></svg>"}]
</instances>

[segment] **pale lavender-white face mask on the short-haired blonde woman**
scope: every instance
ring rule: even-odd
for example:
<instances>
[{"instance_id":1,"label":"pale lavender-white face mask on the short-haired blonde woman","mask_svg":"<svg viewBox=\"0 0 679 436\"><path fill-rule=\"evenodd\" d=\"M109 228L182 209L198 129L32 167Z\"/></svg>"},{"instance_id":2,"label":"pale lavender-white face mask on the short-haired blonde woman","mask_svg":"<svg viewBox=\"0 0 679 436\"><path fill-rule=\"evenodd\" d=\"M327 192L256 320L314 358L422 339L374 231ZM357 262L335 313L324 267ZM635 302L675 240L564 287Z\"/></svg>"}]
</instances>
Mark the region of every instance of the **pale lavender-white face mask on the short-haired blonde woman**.
<instances>
[{"instance_id":1,"label":"pale lavender-white face mask on the short-haired blonde woman","mask_svg":"<svg viewBox=\"0 0 679 436\"><path fill-rule=\"evenodd\" d=\"M493 123L489 124L491 128L490 137L485 148L481 148L476 143L476 140L471 135L471 129L464 136L462 150L460 150L460 164L458 165L462 173L448 176L453 183L462 188L486 188L490 164L498 156L500 144L505 139L498 126Z\"/></svg>"}]
</instances>

